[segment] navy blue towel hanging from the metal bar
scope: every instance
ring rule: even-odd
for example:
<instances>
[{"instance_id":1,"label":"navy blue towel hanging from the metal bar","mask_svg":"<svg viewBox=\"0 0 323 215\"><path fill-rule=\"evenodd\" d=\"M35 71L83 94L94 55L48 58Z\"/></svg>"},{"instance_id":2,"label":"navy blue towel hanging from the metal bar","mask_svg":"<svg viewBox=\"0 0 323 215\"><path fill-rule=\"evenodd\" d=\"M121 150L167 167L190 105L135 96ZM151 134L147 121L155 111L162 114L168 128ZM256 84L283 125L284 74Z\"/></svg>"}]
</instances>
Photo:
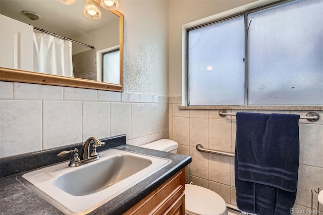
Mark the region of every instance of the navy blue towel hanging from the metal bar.
<instances>
[{"instance_id":1,"label":"navy blue towel hanging from the metal bar","mask_svg":"<svg viewBox=\"0 0 323 215\"><path fill-rule=\"evenodd\" d=\"M290 214L299 166L299 115L237 113L235 179L238 207Z\"/></svg>"}]
</instances>

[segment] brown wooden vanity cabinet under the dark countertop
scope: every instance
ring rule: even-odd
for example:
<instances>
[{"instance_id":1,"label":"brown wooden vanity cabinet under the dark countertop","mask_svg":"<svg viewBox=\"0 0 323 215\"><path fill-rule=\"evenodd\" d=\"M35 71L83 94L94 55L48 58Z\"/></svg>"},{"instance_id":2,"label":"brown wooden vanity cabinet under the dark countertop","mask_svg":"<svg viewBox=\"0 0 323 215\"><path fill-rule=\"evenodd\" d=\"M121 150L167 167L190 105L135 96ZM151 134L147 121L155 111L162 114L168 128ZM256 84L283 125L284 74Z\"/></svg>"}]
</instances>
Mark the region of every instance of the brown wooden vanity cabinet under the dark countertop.
<instances>
[{"instance_id":1,"label":"brown wooden vanity cabinet under the dark countertop","mask_svg":"<svg viewBox=\"0 0 323 215\"><path fill-rule=\"evenodd\" d=\"M185 215L185 168L143 198L124 214Z\"/></svg>"}]
</instances>

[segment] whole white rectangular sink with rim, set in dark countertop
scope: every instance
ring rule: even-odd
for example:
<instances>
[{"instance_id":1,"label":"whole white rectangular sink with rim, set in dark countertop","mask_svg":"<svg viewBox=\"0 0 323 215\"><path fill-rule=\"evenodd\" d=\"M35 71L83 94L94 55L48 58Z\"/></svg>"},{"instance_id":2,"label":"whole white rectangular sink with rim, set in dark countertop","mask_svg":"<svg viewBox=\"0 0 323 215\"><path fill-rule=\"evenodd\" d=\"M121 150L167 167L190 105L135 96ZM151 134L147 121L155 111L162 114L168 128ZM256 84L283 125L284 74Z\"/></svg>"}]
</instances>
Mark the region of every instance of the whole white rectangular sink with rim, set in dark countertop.
<instances>
[{"instance_id":1,"label":"whole white rectangular sink with rim, set in dark countertop","mask_svg":"<svg viewBox=\"0 0 323 215\"><path fill-rule=\"evenodd\" d=\"M64 213L88 213L165 167L169 159L110 149L80 167L69 162L41 168L22 181ZM44 193L46 195L44 195Z\"/></svg>"}]
</instances>

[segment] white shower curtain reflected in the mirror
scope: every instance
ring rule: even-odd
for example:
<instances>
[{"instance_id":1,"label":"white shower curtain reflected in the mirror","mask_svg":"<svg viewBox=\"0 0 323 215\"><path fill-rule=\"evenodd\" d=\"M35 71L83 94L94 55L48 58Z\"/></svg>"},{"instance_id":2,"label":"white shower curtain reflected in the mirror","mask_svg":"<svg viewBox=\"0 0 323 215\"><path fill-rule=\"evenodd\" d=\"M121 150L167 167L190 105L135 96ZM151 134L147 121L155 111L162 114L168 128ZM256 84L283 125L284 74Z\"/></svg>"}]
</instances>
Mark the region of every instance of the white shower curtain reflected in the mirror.
<instances>
[{"instance_id":1,"label":"white shower curtain reflected in the mirror","mask_svg":"<svg viewBox=\"0 0 323 215\"><path fill-rule=\"evenodd\" d=\"M72 42L34 33L34 71L73 77Z\"/></svg>"}]
</instances>

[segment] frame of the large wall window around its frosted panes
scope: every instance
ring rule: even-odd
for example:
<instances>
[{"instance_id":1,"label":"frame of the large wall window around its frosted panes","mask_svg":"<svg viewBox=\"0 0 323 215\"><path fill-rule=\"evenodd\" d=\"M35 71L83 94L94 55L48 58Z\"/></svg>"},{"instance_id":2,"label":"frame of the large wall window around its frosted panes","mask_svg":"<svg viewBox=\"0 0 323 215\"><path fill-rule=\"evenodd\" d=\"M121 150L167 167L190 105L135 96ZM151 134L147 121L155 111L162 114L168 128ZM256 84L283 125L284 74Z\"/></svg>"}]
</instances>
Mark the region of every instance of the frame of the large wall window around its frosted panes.
<instances>
[{"instance_id":1,"label":"frame of the large wall window around its frosted panes","mask_svg":"<svg viewBox=\"0 0 323 215\"><path fill-rule=\"evenodd\" d=\"M230 19L234 19L239 16L244 16L244 27L245 27L245 37L244 37L244 47L245 47L245 53L244 58L245 61L248 61L247 59L247 41L248 41L248 35L247 35L247 19L248 14L254 13L257 11L265 10L271 7L275 7L278 5L286 4L289 2L294 2L295 0L264 0L264 1L257 1L253 2L226 12L222 12L210 17L206 17L194 22L190 22L187 24L184 24L182 26L182 106L199 106L199 105L189 105L189 76L188 76L188 31L194 30L197 28L202 28L208 25L212 25L214 23L220 23L224 22ZM259 3L260 2L260 3ZM247 95L248 95L248 64L244 64L244 106L252 106L247 103ZM201 105L201 106L214 106L214 105ZM222 105L217 105L222 106ZM224 105L224 106L239 106L239 105ZM271 105L265 105L265 106L271 106Z\"/></svg>"}]
</instances>

